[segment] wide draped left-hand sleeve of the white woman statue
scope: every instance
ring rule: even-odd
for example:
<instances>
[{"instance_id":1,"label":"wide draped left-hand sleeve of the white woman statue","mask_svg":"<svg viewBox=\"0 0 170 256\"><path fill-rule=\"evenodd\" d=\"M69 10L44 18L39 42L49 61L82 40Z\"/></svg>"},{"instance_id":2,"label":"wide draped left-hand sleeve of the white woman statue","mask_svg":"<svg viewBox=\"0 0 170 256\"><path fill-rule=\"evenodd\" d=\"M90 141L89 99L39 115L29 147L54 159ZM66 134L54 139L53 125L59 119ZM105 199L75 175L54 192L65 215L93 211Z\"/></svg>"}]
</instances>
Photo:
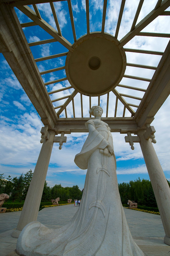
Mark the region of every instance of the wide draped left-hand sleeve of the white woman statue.
<instances>
[{"instance_id":1,"label":"wide draped left-hand sleeve of the white woman statue","mask_svg":"<svg viewBox=\"0 0 170 256\"><path fill-rule=\"evenodd\" d=\"M93 120L89 120L85 123L85 126L88 128L88 125L91 124L95 128ZM97 149L104 149L109 145L109 142L96 130L96 128L89 132L89 135L81 149L81 152L75 156L75 163L80 169L87 169L88 159L91 154Z\"/></svg>"}]
</instances>

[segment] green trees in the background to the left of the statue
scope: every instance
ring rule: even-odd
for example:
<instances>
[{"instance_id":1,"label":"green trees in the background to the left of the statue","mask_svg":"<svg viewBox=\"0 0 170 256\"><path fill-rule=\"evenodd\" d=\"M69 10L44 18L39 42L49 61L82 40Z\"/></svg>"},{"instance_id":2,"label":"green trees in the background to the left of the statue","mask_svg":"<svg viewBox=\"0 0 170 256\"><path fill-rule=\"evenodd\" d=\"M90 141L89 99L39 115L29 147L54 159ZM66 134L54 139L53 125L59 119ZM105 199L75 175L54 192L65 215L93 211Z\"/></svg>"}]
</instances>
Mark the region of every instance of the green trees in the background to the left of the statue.
<instances>
[{"instance_id":1,"label":"green trees in the background to the left of the statue","mask_svg":"<svg viewBox=\"0 0 170 256\"><path fill-rule=\"evenodd\" d=\"M27 171L25 174L21 174L18 178L4 177L4 174L0 174L0 194L6 193L10 197L10 200L25 200L29 184L32 179L32 170ZM49 202L51 199L60 198L60 201L67 201L67 199L81 199L82 193L78 186L62 187L61 184L54 187L47 186L45 181L44 189L42 193L42 202Z\"/></svg>"}]
</instances>

